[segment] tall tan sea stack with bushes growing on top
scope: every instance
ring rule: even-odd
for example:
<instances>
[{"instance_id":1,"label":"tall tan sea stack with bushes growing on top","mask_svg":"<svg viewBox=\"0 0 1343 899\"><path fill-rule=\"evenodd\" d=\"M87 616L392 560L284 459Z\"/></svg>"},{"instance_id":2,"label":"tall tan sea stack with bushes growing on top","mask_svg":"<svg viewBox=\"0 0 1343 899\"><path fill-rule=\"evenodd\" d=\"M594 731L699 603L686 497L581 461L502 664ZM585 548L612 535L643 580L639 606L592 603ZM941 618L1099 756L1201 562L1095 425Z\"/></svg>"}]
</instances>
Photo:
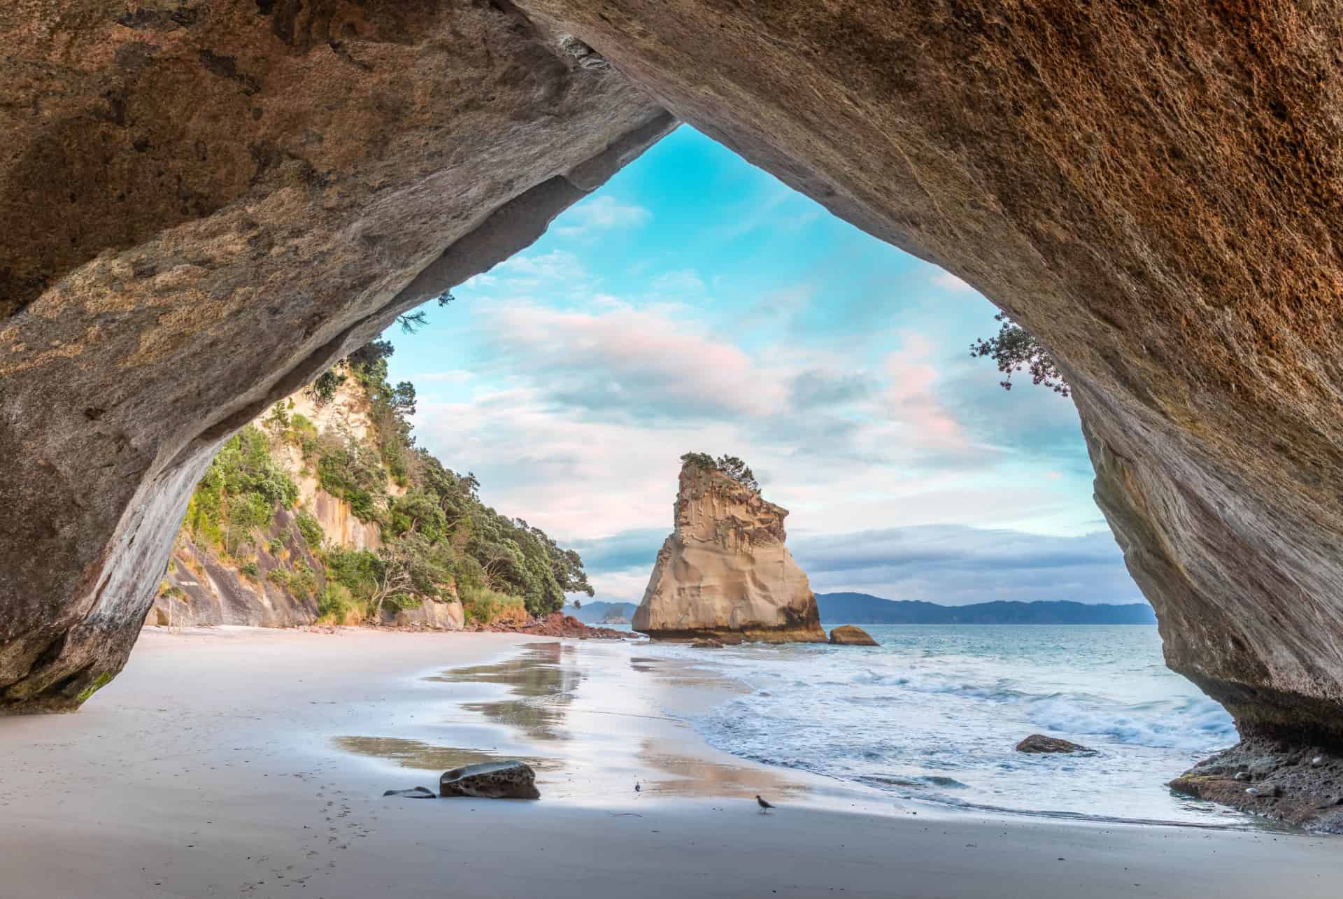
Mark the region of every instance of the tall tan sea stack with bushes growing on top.
<instances>
[{"instance_id":1,"label":"tall tan sea stack with bushes growing on top","mask_svg":"<svg viewBox=\"0 0 1343 899\"><path fill-rule=\"evenodd\" d=\"M761 499L739 460L682 462L674 531L634 629L654 640L825 642L815 594L783 544L788 511Z\"/></svg>"}]
</instances>

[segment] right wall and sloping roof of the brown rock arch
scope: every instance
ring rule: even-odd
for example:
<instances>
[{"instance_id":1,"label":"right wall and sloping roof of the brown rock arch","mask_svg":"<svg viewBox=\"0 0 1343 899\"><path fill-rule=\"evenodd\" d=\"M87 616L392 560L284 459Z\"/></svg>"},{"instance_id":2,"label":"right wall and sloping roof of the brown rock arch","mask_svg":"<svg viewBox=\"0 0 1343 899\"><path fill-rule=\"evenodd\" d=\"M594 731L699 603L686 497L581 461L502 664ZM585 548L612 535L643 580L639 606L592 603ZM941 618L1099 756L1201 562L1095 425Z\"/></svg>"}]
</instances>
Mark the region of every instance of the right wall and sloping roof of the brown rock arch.
<instances>
[{"instance_id":1,"label":"right wall and sloping roof of the brown rock arch","mask_svg":"<svg viewBox=\"0 0 1343 899\"><path fill-rule=\"evenodd\" d=\"M1039 336L1170 667L1343 743L1336 5L520 3Z\"/></svg>"}]
</instances>

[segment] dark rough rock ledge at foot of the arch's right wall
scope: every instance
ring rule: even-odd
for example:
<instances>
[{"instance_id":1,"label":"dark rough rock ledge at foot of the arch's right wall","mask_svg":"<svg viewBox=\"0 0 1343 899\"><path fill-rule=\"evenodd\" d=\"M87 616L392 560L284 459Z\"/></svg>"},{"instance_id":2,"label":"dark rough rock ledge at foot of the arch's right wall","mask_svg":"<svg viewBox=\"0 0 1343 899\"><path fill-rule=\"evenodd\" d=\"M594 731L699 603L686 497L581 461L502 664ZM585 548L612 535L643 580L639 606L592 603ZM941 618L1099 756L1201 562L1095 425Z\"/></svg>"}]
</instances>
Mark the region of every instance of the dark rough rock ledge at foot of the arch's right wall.
<instances>
[{"instance_id":1,"label":"dark rough rock ledge at foot of the arch's right wall","mask_svg":"<svg viewBox=\"0 0 1343 899\"><path fill-rule=\"evenodd\" d=\"M1170 782L1176 793L1320 830L1343 833L1343 757L1248 739Z\"/></svg>"}]
</instances>

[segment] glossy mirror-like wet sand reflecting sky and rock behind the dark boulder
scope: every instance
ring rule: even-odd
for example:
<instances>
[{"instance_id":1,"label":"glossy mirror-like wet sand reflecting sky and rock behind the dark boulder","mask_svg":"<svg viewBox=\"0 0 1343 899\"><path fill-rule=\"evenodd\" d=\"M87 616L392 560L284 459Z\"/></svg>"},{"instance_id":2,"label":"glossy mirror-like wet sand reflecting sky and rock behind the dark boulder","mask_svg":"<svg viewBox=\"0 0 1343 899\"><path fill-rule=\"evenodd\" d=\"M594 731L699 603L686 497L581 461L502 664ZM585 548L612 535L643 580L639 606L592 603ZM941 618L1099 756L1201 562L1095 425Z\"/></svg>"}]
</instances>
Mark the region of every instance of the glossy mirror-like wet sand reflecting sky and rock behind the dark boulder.
<instances>
[{"instance_id":1,"label":"glossy mirror-like wet sand reflecting sky and rock behind the dark boulder","mask_svg":"<svg viewBox=\"0 0 1343 899\"><path fill-rule=\"evenodd\" d=\"M757 793L787 802L811 793L804 778L736 763L731 755L704 746L682 719L659 714L672 707L682 718L698 714L721 701L724 693L744 688L736 681L685 661L631 657L623 646L533 642L520 649L513 658L446 671L427 680L508 687L506 699L459 699L458 712L432 727L435 732L449 727L454 736L447 742L467 742L469 734L481 738L482 715L509 731L486 736L490 742L485 746L520 738L517 748L524 754L400 736L338 736L334 746L423 771L520 758L543 774L548 798L596 800L603 806L655 797L747 801ZM642 787L639 793L635 782Z\"/></svg>"}]
</instances>

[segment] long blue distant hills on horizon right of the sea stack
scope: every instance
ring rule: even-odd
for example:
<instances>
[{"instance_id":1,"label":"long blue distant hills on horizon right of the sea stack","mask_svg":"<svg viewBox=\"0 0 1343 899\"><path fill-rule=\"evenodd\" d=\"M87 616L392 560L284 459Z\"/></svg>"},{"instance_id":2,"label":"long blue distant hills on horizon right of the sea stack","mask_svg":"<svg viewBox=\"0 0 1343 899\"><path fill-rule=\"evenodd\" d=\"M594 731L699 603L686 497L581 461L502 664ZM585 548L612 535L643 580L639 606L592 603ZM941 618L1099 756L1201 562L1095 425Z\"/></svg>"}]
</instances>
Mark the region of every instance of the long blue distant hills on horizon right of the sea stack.
<instances>
[{"instance_id":1,"label":"long blue distant hills on horizon right of the sea stack","mask_svg":"<svg viewBox=\"0 0 1343 899\"><path fill-rule=\"evenodd\" d=\"M936 602L882 599L866 593L818 593L821 624L833 625L1155 625L1146 602L1124 606L1084 602Z\"/></svg>"}]
</instances>

